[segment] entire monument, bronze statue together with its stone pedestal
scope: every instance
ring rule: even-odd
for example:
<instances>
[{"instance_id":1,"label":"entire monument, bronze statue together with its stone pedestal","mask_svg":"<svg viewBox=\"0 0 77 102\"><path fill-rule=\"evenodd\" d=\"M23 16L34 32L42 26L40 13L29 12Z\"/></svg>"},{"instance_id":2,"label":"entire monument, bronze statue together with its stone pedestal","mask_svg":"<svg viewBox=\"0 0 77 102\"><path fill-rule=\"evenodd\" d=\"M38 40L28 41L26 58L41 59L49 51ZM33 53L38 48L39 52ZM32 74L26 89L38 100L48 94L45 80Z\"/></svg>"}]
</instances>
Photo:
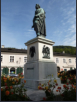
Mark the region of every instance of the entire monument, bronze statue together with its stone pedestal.
<instances>
[{"instance_id":1,"label":"entire monument, bronze statue together with its stone pedestal","mask_svg":"<svg viewBox=\"0 0 77 102\"><path fill-rule=\"evenodd\" d=\"M46 83L50 78L48 75L53 74L60 86L60 79L57 77L57 65L53 60L54 42L46 39L45 11L40 8L39 4L35 6L35 16L33 26L36 32L36 38L25 43L27 46L27 63L24 65L24 79L26 87L38 89L39 83Z\"/></svg>"}]
</instances>

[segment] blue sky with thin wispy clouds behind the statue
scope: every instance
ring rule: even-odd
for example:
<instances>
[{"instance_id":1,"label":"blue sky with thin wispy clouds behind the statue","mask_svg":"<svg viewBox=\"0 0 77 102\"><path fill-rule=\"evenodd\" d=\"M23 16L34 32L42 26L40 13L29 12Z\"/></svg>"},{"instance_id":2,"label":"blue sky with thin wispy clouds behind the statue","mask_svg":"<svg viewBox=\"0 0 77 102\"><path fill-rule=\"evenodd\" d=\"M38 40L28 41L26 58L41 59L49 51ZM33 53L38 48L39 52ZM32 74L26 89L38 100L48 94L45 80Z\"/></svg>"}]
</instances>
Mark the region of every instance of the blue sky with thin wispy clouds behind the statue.
<instances>
[{"instance_id":1,"label":"blue sky with thin wispy clouds behind the statue","mask_svg":"<svg viewBox=\"0 0 77 102\"><path fill-rule=\"evenodd\" d=\"M46 38L54 46L76 46L76 0L1 0L1 45L25 48L36 37L35 5L46 12Z\"/></svg>"}]
</instances>

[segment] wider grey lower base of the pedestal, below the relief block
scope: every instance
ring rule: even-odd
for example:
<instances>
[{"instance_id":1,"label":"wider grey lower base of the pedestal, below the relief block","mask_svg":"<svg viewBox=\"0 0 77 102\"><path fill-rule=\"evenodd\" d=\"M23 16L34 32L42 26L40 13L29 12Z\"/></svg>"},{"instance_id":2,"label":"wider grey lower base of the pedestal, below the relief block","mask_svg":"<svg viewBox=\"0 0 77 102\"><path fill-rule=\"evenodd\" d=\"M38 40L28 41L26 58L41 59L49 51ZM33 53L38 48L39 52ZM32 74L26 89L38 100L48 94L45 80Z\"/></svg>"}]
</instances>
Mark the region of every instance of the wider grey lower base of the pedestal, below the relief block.
<instances>
[{"instance_id":1,"label":"wider grey lower base of the pedestal, below the relief block","mask_svg":"<svg viewBox=\"0 0 77 102\"><path fill-rule=\"evenodd\" d=\"M58 85L61 85L60 78L57 78L57 66L55 62L36 61L26 63L24 73L25 86L28 88L38 89L39 83L47 83L50 79L52 80L51 83L53 83L54 78L57 80Z\"/></svg>"}]
</instances>

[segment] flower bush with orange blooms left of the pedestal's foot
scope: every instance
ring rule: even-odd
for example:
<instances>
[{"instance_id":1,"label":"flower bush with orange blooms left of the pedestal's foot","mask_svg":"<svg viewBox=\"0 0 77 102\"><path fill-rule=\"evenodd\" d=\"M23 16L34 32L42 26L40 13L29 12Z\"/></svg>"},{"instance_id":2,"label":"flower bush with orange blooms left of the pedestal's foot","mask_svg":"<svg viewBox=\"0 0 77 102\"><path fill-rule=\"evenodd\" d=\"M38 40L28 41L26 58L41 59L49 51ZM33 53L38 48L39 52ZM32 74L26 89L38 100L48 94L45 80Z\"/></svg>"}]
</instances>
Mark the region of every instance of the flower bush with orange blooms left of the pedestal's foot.
<instances>
[{"instance_id":1,"label":"flower bush with orange blooms left of the pedestal's foot","mask_svg":"<svg viewBox=\"0 0 77 102\"><path fill-rule=\"evenodd\" d=\"M26 95L26 89L24 88L26 80L18 87L21 80L19 77L1 77L1 86L3 86L1 87L1 101L30 101L29 97Z\"/></svg>"}]
</instances>

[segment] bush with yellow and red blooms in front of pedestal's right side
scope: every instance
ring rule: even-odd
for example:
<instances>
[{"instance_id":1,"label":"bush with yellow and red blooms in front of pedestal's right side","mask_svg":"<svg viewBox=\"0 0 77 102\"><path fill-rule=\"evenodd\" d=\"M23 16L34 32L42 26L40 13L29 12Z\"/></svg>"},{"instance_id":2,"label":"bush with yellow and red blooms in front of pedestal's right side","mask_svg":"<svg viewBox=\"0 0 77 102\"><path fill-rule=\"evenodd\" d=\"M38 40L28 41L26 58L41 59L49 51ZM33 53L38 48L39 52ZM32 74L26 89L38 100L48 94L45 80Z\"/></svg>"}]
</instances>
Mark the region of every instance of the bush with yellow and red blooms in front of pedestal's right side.
<instances>
[{"instance_id":1,"label":"bush with yellow and red blooms in front of pedestal's right side","mask_svg":"<svg viewBox=\"0 0 77 102\"><path fill-rule=\"evenodd\" d=\"M51 78L51 75L48 75L47 77ZM53 77L53 75L52 75L52 77ZM46 98L45 97L43 98L44 101L53 101L54 100L55 95L53 93L53 90L58 84L57 84L57 80L55 78L54 78L52 84L51 84L51 81L52 80L50 79L47 83L44 83L44 84L40 83L38 86L39 90L45 91Z\"/></svg>"}]
</instances>

